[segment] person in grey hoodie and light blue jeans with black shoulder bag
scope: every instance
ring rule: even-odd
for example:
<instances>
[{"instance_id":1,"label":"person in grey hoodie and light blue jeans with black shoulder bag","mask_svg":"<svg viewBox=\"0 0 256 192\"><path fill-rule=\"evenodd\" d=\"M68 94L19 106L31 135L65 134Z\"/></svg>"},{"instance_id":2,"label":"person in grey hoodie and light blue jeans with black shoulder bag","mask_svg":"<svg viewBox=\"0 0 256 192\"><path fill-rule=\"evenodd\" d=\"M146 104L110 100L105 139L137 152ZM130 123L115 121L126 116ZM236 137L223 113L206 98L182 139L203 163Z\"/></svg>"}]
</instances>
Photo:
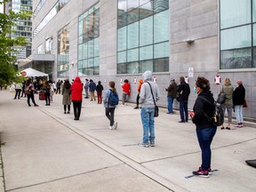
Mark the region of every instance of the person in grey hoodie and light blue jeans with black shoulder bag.
<instances>
[{"instance_id":1,"label":"person in grey hoodie and light blue jeans with black shoulder bag","mask_svg":"<svg viewBox=\"0 0 256 192\"><path fill-rule=\"evenodd\" d=\"M142 75L144 84L140 88L140 117L143 126L143 137L140 146L148 148L155 147L155 103L160 99L157 84L152 82L152 72L145 71ZM152 92L151 92L152 91ZM149 142L148 142L149 141Z\"/></svg>"}]
</instances>

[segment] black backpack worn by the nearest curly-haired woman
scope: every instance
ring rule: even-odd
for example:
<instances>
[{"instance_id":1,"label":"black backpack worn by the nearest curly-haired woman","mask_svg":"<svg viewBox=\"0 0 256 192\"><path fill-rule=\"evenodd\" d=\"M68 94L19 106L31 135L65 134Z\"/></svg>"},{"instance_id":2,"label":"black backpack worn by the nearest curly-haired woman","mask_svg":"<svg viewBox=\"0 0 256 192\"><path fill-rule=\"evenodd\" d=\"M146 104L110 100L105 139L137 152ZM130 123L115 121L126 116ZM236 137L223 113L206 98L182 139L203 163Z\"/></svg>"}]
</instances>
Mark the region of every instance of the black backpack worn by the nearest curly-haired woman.
<instances>
[{"instance_id":1,"label":"black backpack worn by the nearest curly-haired woman","mask_svg":"<svg viewBox=\"0 0 256 192\"><path fill-rule=\"evenodd\" d=\"M214 104L212 104L212 102L205 99L204 97L198 97L198 98L201 98L201 99L205 100L206 102L208 102L209 104L211 104L215 108L215 110L213 112L213 116L208 116L205 112L204 112L204 116L206 116L208 118L208 120L210 122L212 122L212 124L214 126L220 126L221 124L223 124L224 123L224 112L223 112L223 109L220 106L220 103L218 103L214 100Z\"/></svg>"}]
</instances>

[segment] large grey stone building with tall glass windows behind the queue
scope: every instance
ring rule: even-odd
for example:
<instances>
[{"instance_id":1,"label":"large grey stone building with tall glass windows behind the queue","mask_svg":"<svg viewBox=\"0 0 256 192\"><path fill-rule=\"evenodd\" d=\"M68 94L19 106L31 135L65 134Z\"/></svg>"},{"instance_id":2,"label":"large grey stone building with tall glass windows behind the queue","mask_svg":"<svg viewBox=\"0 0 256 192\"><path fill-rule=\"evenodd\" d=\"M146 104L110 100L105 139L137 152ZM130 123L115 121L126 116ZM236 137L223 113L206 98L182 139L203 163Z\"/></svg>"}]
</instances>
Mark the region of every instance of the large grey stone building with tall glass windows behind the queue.
<instances>
[{"instance_id":1,"label":"large grey stone building with tall glass windows behind the queue","mask_svg":"<svg viewBox=\"0 0 256 192\"><path fill-rule=\"evenodd\" d=\"M45 2L33 1L33 54L25 66L49 70L52 80L80 76L106 87L127 78L131 102L136 79L151 70L162 93L159 106L167 105L171 78L185 76L193 90L196 77L205 76L215 99L226 77L235 88L242 80L250 106L244 116L256 118L255 0ZM188 108L195 100L191 92Z\"/></svg>"}]
</instances>

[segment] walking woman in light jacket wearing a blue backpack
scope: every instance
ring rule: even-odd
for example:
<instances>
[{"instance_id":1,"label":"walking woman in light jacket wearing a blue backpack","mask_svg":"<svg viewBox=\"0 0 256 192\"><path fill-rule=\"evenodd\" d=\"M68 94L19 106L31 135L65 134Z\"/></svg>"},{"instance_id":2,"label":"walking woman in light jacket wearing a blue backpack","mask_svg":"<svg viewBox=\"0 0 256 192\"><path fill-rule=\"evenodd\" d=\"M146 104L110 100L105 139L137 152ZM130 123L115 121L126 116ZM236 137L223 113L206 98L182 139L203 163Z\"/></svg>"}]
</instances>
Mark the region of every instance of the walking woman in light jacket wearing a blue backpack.
<instances>
[{"instance_id":1,"label":"walking woman in light jacket wearing a blue backpack","mask_svg":"<svg viewBox=\"0 0 256 192\"><path fill-rule=\"evenodd\" d=\"M117 122L115 122L114 116L115 116L116 105L118 105L119 98L118 98L118 94L116 92L115 82L110 81L108 83L108 85L109 85L110 89L108 89L105 92L104 97L103 97L103 103L104 103L104 108L105 108L105 114L110 121L110 126L108 127L108 129L116 130Z\"/></svg>"}]
</instances>

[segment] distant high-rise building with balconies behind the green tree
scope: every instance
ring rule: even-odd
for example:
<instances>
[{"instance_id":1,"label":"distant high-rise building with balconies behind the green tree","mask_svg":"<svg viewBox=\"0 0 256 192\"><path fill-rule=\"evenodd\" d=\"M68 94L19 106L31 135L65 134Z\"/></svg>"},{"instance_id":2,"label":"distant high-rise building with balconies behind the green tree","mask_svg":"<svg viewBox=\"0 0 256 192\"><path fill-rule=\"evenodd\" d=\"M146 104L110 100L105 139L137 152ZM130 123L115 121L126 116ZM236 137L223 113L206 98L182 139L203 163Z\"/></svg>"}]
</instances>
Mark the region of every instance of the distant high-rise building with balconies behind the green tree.
<instances>
[{"instance_id":1,"label":"distant high-rise building with balconies behind the green tree","mask_svg":"<svg viewBox=\"0 0 256 192\"><path fill-rule=\"evenodd\" d=\"M4 13L8 14L9 10L12 12L31 12L32 11L32 0L12 0L4 4ZM25 60L31 54L32 44L32 17L28 17L26 20L18 20L16 25L12 27L10 36L12 38L18 36L24 36L28 42L27 46L15 46L12 47L12 55L17 56L17 63Z\"/></svg>"}]
</instances>

